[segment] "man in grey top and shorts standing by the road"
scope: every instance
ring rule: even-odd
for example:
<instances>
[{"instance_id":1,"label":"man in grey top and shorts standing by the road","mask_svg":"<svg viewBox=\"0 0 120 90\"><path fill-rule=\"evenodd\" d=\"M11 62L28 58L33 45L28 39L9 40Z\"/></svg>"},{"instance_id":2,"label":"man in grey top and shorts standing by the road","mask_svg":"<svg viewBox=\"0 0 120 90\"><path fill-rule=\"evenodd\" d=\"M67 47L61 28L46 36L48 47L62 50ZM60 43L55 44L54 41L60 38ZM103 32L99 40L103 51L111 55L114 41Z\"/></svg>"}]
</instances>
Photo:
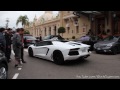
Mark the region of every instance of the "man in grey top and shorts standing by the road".
<instances>
[{"instance_id":1,"label":"man in grey top and shorts standing by the road","mask_svg":"<svg viewBox=\"0 0 120 90\"><path fill-rule=\"evenodd\" d=\"M21 66L21 47L22 47L22 42L21 42L21 36L22 30L17 29L17 32L13 35L13 51L15 53L15 67L20 68Z\"/></svg>"}]
</instances>

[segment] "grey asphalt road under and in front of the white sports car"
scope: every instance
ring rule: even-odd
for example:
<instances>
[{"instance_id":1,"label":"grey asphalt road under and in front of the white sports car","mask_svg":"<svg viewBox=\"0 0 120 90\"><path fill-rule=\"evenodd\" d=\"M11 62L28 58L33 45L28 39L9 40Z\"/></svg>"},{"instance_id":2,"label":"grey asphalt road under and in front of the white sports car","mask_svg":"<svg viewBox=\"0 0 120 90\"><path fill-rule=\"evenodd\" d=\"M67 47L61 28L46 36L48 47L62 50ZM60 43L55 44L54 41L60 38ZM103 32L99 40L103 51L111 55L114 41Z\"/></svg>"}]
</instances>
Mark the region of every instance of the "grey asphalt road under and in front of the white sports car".
<instances>
[{"instance_id":1,"label":"grey asphalt road under and in front of the white sports car","mask_svg":"<svg viewBox=\"0 0 120 90\"><path fill-rule=\"evenodd\" d=\"M9 79L120 79L120 54L96 54L85 60L56 65L51 61L32 58L25 50L27 61L21 69L14 68L14 56L9 63Z\"/></svg>"}]
</instances>

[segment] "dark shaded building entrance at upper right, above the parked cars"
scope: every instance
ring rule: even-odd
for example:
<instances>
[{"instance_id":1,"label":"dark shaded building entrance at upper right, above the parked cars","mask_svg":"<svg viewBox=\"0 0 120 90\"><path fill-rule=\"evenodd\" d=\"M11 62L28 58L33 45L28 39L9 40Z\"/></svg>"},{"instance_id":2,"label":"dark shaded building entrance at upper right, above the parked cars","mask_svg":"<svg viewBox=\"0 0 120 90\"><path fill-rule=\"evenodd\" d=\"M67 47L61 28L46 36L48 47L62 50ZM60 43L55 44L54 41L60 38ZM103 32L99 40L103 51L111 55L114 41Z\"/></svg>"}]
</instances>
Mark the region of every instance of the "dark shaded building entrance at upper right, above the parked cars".
<instances>
[{"instance_id":1,"label":"dark shaded building entrance at upper right, above the parked cars","mask_svg":"<svg viewBox=\"0 0 120 90\"><path fill-rule=\"evenodd\" d=\"M79 11L90 20L90 28L94 35L119 35L120 11Z\"/></svg>"}]
</instances>

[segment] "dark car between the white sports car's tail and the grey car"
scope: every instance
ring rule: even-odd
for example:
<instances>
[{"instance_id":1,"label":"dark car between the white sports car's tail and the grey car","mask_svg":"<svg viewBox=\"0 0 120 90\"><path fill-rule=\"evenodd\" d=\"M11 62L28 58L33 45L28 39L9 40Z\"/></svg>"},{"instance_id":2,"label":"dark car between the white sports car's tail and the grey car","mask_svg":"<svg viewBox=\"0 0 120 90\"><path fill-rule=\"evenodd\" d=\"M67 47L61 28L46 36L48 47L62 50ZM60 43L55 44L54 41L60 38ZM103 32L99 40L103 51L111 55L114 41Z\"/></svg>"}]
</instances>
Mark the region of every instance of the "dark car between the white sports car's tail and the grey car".
<instances>
[{"instance_id":1,"label":"dark car between the white sports car's tail and the grey car","mask_svg":"<svg viewBox=\"0 0 120 90\"><path fill-rule=\"evenodd\" d=\"M75 42L90 45L90 51L94 50L94 44L101 40L98 36L82 36L80 39L74 40Z\"/></svg>"}]
</instances>

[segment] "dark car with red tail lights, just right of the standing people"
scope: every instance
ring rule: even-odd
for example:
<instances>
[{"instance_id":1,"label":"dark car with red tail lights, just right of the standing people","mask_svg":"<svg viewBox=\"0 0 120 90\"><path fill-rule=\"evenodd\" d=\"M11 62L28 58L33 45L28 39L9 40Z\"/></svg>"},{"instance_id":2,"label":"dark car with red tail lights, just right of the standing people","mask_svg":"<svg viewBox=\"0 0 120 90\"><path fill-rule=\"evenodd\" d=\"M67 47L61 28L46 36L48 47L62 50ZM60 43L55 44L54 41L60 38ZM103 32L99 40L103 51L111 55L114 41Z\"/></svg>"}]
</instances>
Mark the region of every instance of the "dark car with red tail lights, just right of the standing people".
<instances>
[{"instance_id":1,"label":"dark car with red tail lights, just right of the standing people","mask_svg":"<svg viewBox=\"0 0 120 90\"><path fill-rule=\"evenodd\" d=\"M35 44L37 42L37 39L32 35L25 34L23 38L24 38L24 47L28 47L29 45Z\"/></svg>"}]
</instances>

